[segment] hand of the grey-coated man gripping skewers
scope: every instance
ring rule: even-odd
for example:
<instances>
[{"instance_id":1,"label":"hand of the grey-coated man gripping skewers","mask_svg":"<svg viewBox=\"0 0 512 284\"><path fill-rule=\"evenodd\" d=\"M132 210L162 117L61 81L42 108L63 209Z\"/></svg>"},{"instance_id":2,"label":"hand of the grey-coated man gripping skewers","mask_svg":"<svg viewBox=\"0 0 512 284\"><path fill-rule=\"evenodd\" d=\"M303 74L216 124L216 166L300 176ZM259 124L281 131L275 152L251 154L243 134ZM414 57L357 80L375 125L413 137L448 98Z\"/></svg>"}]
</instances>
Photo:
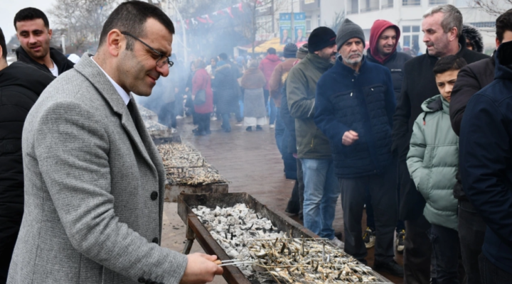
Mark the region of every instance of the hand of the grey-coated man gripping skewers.
<instances>
[{"instance_id":1,"label":"hand of the grey-coated man gripping skewers","mask_svg":"<svg viewBox=\"0 0 512 284\"><path fill-rule=\"evenodd\" d=\"M181 284L202 284L213 281L215 275L221 275L223 269L213 261L217 256L204 253L192 253L187 256L188 263L181 278Z\"/></svg>"}]
</instances>

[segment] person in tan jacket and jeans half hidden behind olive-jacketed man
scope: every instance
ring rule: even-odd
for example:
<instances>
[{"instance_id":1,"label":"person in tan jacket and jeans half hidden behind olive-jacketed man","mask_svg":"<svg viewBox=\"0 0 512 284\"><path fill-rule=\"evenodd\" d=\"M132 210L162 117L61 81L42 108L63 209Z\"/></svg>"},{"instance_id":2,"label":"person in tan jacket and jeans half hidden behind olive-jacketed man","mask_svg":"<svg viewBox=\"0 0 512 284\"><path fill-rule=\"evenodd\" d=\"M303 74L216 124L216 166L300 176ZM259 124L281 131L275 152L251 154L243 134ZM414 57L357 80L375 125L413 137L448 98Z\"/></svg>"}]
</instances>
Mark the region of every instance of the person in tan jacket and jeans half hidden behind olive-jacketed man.
<instances>
[{"instance_id":1,"label":"person in tan jacket and jeans half hidden behind olive-jacketed man","mask_svg":"<svg viewBox=\"0 0 512 284\"><path fill-rule=\"evenodd\" d=\"M274 100L276 106L276 120L275 120L275 139L277 149L281 153L281 158L284 162L284 175L289 180L297 180L297 162L291 153L287 153L282 150L282 140L284 131L286 131L281 116L281 98L282 98L282 87L288 72L292 69L294 62L297 61L295 56L297 55L297 45L295 43L288 43L284 46L283 56L286 58L284 62L280 62L272 72L269 81L270 97ZM297 214L299 213L299 200L294 204L293 208L287 207L286 212Z\"/></svg>"}]
</instances>

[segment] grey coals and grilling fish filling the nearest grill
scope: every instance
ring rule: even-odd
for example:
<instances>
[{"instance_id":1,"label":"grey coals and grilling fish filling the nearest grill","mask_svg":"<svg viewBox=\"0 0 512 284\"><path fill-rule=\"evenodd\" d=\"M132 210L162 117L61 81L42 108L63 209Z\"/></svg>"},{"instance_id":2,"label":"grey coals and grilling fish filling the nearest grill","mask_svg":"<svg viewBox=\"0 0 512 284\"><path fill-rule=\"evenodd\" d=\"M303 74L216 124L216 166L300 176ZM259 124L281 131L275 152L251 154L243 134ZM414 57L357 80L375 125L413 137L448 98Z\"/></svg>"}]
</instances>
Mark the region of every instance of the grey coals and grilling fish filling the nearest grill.
<instances>
[{"instance_id":1,"label":"grey coals and grilling fish filling the nearest grill","mask_svg":"<svg viewBox=\"0 0 512 284\"><path fill-rule=\"evenodd\" d=\"M192 209L250 280L274 283L382 283L371 268L358 263L327 239L291 239L245 204Z\"/></svg>"}]
</instances>

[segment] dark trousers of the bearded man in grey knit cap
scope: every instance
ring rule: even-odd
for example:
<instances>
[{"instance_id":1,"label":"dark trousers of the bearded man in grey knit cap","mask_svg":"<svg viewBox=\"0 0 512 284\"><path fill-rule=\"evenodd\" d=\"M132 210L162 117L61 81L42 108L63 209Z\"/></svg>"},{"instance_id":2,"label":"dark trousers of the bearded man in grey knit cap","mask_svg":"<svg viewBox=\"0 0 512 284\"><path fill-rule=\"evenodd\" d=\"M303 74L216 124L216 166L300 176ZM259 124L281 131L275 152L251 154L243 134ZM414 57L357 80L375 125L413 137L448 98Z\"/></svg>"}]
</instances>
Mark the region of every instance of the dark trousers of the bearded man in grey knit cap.
<instances>
[{"instance_id":1,"label":"dark trousers of the bearded man in grey knit cap","mask_svg":"<svg viewBox=\"0 0 512 284\"><path fill-rule=\"evenodd\" d=\"M366 190L374 197L371 203L375 211L375 261L393 261L393 237L398 219L396 182L395 167L387 167L382 175L340 178L345 252L362 263L366 263L365 258L368 254L363 244L361 229Z\"/></svg>"}]
</instances>

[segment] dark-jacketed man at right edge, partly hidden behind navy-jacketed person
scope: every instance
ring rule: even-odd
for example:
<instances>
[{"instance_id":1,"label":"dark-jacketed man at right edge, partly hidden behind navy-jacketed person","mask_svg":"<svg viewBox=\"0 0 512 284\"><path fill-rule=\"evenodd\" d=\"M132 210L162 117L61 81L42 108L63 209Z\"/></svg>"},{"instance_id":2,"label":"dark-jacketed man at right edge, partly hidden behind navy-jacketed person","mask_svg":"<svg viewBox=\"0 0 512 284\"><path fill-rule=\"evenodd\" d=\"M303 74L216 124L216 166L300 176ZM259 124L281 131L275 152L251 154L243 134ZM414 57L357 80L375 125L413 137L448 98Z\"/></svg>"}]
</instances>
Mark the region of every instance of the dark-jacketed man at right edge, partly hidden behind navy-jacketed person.
<instances>
[{"instance_id":1,"label":"dark-jacketed man at right edge, partly hidden behind navy-jacketed person","mask_svg":"<svg viewBox=\"0 0 512 284\"><path fill-rule=\"evenodd\" d=\"M511 31L505 33L510 27L512 27L512 9L496 19L496 48L501 43L512 40ZM452 128L457 135L459 135L462 118L469 99L494 81L495 62L496 51L494 51L492 58L466 65L459 71L449 107ZM459 200L459 239L462 263L468 276L468 284L481 283L478 258L484 244L486 224L462 191L460 173L457 173L454 197Z\"/></svg>"}]
</instances>

